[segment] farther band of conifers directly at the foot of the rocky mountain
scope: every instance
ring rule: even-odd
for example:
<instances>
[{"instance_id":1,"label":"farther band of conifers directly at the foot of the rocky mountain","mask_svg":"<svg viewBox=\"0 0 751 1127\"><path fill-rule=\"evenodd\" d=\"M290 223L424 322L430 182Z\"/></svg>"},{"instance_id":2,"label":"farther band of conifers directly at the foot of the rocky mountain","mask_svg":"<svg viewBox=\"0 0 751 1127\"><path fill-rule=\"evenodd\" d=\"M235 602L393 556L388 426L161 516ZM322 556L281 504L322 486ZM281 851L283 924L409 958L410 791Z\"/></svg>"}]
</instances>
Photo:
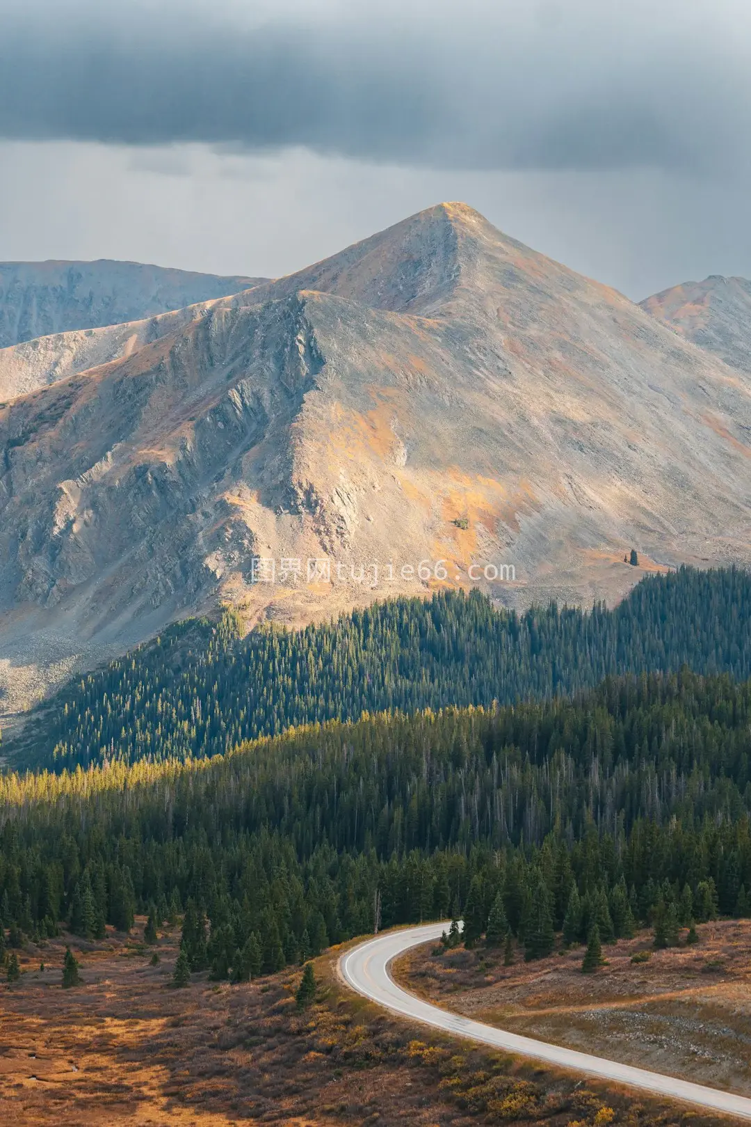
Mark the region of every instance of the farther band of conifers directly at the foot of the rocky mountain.
<instances>
[{"instance_id":1,"label":"farther band of conifers directly at the foot of the rocky mountain","mask_svg":"<svg viewBox=\"0 0 751 1127\"><path fill-rule=\"evenodd\" d=\"M495 610L479 593L379 603L302 632L240 637L171 627L37 710L5 754L18 766L204 757L245 739L365 712L490 707L593 687L605 676L751 676L751 576L678 573L642 580L614 610Z\"/></svg>"}]
</instances>

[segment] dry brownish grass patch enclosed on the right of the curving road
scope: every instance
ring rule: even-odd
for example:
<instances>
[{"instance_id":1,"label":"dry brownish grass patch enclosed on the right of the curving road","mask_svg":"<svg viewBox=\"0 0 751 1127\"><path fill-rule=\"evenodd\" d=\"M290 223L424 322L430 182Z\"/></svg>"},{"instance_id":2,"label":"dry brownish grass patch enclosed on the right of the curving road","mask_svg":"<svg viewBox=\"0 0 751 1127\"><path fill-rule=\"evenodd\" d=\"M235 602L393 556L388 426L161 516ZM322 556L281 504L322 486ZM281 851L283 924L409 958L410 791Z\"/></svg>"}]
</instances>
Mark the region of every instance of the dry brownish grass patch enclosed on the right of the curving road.
<instances>
[{"instance_id":1,"label":"dry brownish grass patch enclosed on the right of the curving road","mask_svg":"<svg viewBox=\"0 0 751 1127\"><path fill-rule=\"evenodd\" d=\"M503 966L479 947L397 966L405 985L457 1012L542 1040L751 1095L751 923L700 924L699 942L651 951L651 934L604 949L581 973L583 949ZM683 937L686 932L682 933ZM649 961L632 962L637 951Z\"/></svg>"}]
</instances>

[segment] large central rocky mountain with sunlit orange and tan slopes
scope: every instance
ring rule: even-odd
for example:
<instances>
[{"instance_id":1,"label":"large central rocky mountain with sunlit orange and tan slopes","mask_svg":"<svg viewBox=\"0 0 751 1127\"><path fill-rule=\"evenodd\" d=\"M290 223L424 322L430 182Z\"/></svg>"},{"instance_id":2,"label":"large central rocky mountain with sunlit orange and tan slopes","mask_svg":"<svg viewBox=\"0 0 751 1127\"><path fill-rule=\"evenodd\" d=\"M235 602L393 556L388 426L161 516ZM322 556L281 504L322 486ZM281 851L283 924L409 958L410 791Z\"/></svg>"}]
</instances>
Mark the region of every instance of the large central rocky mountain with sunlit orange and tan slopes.
<instances>
[{"instance_id":1,"label":"large central rocky mountain with sunlit orange and tan slopes","mask_svg":"<svg viewBox=\"0 0 751 1127\"><path fill-rule=\"evenodd\" d=\"M748 564L750 427L724 363L438 205L6 402L6 684L220 601L298 623L424 592L423 560L512 565L476 584L509 605ZM252 562L324 557L314 584Z\"/></svg>"}]
</instances>

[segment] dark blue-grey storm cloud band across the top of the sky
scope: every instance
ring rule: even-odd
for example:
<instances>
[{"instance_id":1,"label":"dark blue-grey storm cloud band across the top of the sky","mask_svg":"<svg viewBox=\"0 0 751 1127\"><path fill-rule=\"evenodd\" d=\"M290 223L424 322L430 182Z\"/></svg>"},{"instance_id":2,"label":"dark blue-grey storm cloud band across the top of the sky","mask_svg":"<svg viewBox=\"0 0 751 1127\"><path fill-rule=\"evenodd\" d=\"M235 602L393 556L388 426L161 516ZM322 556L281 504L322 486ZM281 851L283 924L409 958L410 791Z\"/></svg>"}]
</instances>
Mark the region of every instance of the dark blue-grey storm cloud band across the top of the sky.
<instances>
[{"instance_id":1,"label":"dark blue-grey storm cloud band across the top of the sky","mask_svg":"<svg viewBox=\"0 0 751 1127\"><path fill-rule=\"evenodd\" d=\"M663 0L660 18L638 0L358 7L253 24L195 2L0 0L0 135L481 169L744 159L749 20L731 0Z\"/></svg>"}]
</instances>

